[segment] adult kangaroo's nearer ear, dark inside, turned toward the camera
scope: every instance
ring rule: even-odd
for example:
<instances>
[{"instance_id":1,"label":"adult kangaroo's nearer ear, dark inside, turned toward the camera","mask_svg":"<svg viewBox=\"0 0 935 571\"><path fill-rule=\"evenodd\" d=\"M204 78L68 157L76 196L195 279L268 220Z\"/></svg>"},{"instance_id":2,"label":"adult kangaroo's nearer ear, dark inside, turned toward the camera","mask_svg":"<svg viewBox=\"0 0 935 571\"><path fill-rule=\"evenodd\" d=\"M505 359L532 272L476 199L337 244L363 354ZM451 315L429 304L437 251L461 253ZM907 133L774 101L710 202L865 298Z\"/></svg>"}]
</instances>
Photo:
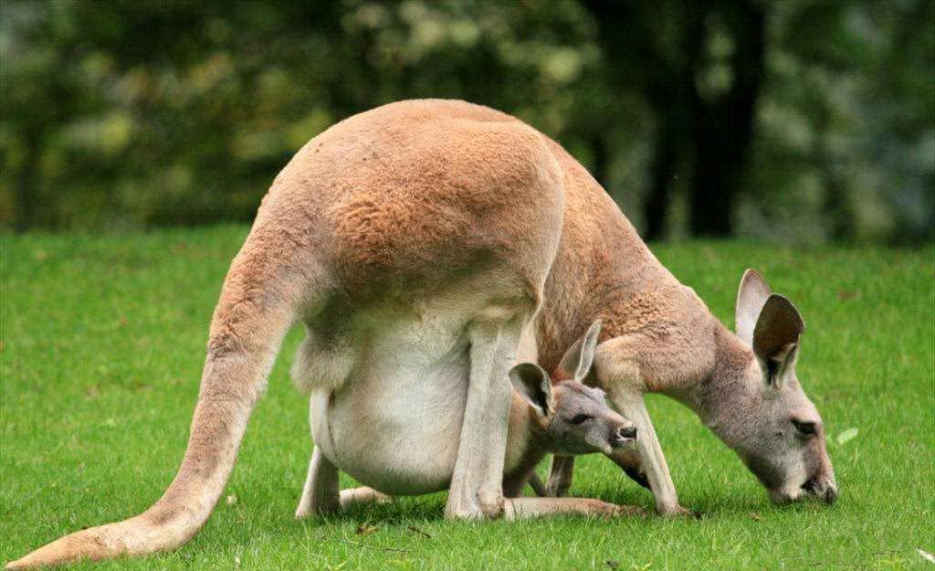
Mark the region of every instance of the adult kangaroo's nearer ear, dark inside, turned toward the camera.
<instances>
[{"instance_id":1,"label":"adult kangaroo's nearer ear, dark inside, turned toward the camera","mask_svg":"<svg viewBox=\"0 0 935 571\"><path fill-rule=\"evenodd\" d=\"M754 353L763 365L766 381L782 388L785 379L795 371L798 338L805 331L805 322L791 301L772 294L763 304L756 319Z\"/></svg>"}]
</instances>

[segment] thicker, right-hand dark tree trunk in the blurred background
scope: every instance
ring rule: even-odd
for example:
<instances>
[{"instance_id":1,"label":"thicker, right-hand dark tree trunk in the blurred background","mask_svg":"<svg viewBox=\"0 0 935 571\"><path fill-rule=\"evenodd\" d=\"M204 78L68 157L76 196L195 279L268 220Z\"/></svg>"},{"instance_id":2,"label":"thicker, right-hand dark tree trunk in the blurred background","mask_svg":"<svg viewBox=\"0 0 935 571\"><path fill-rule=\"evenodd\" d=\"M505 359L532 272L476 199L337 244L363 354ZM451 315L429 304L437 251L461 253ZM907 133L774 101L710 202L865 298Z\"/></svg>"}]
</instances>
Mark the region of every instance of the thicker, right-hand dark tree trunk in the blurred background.
<instances>
[{"instance_id":1,"label":"thicker, right-hand dark tree trunk in the blurred background","mask_svg":"<svg viewBox=\"0 0 935 571\"><path fill-rule=\"evenodd\" d=\"M695 168L689 205L692 234L725 237L733 232L734 206L754 134L766 14L753 1L721 3L717 11L734 38L733 85L712 101L705 101L697 88L692 91Z\"/></svg>"}]
</instances>

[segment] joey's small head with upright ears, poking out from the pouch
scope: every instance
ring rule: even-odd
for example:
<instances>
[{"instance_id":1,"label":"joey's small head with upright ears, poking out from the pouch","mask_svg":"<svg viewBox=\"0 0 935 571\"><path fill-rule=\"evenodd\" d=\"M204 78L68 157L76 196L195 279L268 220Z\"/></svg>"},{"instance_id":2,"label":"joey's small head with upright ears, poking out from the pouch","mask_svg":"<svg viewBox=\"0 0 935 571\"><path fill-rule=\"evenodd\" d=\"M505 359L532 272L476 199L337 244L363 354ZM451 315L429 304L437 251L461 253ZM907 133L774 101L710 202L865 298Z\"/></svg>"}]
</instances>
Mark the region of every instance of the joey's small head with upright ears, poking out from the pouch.
<instances>
[{"instance_id":1,"label":"joey's small head with upright ears, poking out from the pouch","mask_svg":"<svg viewBox=\"0 0 935 571\"><path fill-rule=\"evenodd\" d=\"M513 387L529 403L550 452L610 453L634 443L637 429L633 423L611 409L603 390L582 383L591 370L599 333L597 321L566 352L562 362L565 370L573 373L570 379L553 383L549 374L533 363L520 363L510 372ZM559 370L563 370L561 365Z\"/></svg>"}]
</instances>

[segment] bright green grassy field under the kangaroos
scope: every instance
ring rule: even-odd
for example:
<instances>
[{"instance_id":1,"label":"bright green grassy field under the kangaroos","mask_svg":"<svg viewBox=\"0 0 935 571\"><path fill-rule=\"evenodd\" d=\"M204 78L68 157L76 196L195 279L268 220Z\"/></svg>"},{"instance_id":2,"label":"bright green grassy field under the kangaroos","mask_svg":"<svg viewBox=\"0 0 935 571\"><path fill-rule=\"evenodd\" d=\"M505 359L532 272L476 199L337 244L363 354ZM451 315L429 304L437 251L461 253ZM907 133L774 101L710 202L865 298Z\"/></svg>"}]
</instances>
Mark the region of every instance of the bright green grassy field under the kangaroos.
<instances>
[{"instance_id":1,"label":"bright green grassy field under the kangaroos","mask_svg":"<svg viewBox=\"0 0 935 571\"><path fill-rule=\"evenodd\" d=\"M135 514L165 490L185 447L209 317L246 232L0 238L0 561ZM690 411L653 399L682 503L700 520L453 523L436 494L297 522L310 442L307 403L287 374L295 330L228 501L201 534L173 553L79 568L935 569L916 552L935 552L935 251L654 250L731 327L748 266L798 304L808 324L799 378L825 418L837 505L770 505ZM572 491L652 505L599 456L579 461Z\"/></svg>"}]
</instances>

